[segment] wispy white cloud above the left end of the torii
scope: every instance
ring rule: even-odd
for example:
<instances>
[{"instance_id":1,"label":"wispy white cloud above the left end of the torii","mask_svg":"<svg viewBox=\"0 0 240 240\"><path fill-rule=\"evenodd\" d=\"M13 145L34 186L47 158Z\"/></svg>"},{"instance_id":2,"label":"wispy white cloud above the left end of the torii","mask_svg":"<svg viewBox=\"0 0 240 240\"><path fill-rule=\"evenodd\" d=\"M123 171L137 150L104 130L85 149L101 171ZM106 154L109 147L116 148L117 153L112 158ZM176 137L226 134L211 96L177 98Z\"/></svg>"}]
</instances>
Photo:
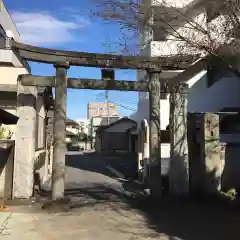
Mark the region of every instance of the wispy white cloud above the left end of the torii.
<instances>
[{"instance_id":1,"label":"wispy white cloud above the left end of the torii","mask_svg":"<svg viewBox=\"0 0 240 240\"><path fill-rule=\"evenodd\" d=\"M60 19L48 12L15 11L12 18L21 35L21 41L31 45L60 45L79 41L79 30L89 22L80 16Z\"/></svg>"}]
</instances>

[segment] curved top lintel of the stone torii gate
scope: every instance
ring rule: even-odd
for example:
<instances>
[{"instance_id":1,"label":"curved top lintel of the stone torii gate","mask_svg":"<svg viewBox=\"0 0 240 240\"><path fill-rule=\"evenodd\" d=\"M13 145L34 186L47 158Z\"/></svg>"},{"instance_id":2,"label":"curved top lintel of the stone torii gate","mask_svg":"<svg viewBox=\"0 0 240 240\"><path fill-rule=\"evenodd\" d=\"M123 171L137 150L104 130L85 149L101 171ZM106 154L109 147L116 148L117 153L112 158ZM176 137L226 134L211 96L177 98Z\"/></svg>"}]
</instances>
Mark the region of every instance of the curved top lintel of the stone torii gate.
<instances>
[{"instance_id":1,"label":"curved top lintel of the stone torii gate","mask_svg":"<svg viewBox=\"0 0 240 240\"><path fill-rule=\"evenodd\" d=\"M142 69L142 70L184 70L199 56L135 57L112 54L73 52L41 48L12 40L11 47L27 60L49 64L68 62L71 66L99 68Z\"/></svg>"}]
</instances>

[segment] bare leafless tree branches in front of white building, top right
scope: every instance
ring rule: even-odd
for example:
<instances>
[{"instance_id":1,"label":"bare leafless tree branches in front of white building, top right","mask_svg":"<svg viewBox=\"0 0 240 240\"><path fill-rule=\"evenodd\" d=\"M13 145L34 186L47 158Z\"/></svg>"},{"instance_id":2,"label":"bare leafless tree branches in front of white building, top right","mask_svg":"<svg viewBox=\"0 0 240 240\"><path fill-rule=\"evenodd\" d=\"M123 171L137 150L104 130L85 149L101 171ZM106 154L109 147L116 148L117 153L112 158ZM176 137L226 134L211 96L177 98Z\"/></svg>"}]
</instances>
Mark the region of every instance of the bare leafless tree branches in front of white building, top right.
<instances>
[{"instance_id":1,"label":"bare leafless tree branches in front of white building, top right","mask_svg":"<svg viewBox=\"0 0 240 240\"><path fill-rule=\"evenodd\" d=\"M153 41L161 55L210 54L238 74L229 59L240 52L238 0L91 1L94 16L120 25L124 53L144 54Z\"/></svg>"}]
</instances>

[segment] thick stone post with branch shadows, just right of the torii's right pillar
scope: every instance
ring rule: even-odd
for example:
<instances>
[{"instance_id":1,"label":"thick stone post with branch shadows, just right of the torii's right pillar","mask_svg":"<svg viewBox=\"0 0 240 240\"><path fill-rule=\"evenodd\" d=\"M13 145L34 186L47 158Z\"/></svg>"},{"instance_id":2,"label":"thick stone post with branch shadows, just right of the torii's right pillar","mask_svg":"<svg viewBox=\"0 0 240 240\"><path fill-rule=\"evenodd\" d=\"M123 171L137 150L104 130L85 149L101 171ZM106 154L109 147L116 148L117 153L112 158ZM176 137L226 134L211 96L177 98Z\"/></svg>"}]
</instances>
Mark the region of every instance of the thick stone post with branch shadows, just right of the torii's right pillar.
<instances>
[{"instance_id":1,"label":"thick stone post with branch shadows, just right of the torii's right pillar","mask_svg":"<svg viewBox=\"0 0 240 240\"><path fill-rule=\"evenodd\" d=\"M189 192L187 97L187 84L170 86L170 192L181 195Z\"/></svg>"}]
</instances>

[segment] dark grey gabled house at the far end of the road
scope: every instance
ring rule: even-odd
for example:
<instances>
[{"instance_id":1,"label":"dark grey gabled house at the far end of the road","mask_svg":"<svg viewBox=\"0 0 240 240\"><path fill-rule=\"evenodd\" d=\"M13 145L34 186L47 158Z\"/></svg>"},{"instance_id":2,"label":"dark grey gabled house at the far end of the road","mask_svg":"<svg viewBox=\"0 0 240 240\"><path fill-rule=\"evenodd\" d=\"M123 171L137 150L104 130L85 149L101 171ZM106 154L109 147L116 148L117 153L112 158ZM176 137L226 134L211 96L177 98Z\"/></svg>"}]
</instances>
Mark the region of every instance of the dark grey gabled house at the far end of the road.
<instances>
[{"instance_id":1,"label":"dark grey gabled house at the far end of the road","mask_svg":"<svg viewBox=\"0 0 240 240\"><path fill-rule=\"evenodd\" d=\"M96 131L96 151L136 152L137 123L130 118L121 118Z\"/></svg>"}]
</instances>

